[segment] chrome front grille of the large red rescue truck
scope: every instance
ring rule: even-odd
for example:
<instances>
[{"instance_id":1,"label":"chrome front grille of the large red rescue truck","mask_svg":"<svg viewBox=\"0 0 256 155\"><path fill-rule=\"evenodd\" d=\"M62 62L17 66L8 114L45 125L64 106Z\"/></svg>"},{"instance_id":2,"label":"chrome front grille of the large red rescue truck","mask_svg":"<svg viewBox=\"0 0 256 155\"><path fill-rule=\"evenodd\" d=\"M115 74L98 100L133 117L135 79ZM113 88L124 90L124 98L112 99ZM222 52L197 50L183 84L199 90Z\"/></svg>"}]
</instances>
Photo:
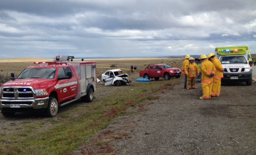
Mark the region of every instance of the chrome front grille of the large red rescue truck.
<instances>
[{"instance_id":1,"label":"chrome front grille of the large red rescue truck","mask_svg":"<svg viewBox=\"0 0 256 155\"><path fill-rule=\"evenodd\" d=\"M2 99L31 99L34 98L32 87L4 87Z\"/></svg>"}]
</instances>

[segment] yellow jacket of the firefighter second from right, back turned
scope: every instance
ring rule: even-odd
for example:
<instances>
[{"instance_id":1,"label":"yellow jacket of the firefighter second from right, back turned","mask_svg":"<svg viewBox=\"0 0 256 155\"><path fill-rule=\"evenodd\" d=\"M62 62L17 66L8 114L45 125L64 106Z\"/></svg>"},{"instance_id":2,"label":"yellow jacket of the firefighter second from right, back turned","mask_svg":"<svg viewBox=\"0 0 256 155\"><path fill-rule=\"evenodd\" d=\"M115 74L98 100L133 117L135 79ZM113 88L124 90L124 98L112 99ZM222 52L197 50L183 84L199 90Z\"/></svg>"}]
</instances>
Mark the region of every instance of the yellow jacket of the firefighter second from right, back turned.
<instances>
[{"instance_id":1,"label":"yellow jacket of the firefighter second from right, back turned","mask_svg":"<svg viewBox=\"0 0 256 155\"><path fill-rule=\"evenodd\" d=\"M216 68L214 64L208 59L204 59L201 61L201 82L210 82L213 81L213 77L208 77L210 73L215 74Z\"/></svg>"}]
</instances>

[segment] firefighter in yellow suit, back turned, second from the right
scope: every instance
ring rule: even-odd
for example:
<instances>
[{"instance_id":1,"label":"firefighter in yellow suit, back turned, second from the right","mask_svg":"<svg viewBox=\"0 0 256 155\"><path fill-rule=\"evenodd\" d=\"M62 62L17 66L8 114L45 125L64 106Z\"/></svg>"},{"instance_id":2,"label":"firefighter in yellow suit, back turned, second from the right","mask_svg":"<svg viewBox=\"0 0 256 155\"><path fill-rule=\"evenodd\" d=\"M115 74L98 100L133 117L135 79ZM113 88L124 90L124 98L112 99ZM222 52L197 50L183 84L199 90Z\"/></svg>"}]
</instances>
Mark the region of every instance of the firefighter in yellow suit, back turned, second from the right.
<instances>
[{"instance_id":1,"label":"firefighter in yellow suit, back turned, second from the right","mask_svg":"<svg viewBox=\"0 0 256 155\"><path fill-rule=\"evenodd\" d=\"M200 56L201 60L201 86L203 95L199 97L200 100L207 100L211 98L212 86L213 86L213 76L215 74L214 64L207 59L205 54Z\"/></svg>"}]
</instances>

